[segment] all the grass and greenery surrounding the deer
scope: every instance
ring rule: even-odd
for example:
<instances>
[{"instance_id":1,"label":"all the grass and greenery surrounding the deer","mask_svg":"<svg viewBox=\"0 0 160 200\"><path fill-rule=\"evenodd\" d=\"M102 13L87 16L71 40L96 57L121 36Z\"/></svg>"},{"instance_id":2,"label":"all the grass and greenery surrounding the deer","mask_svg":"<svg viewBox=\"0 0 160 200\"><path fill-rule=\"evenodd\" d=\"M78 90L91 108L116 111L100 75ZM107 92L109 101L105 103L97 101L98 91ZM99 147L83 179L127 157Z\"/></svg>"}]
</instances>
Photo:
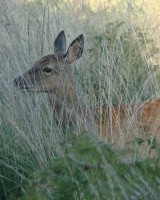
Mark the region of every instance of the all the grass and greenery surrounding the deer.
<instances>
[{"instance_id":1,"label":"all the grass and greenery surrounding the deer","mask_svg":"<svg viewBox=\"0 0 160 200\"><path fill-rule=\"evenodd\" d=\"M0 199L160 199L156 141L137 138L128 160L125 142L57 127L45 94L13 87L61 30L68 44L84 34L74 72L86 104L160 97L159 0L0 0Z\"/></svg>"}]
</instances>

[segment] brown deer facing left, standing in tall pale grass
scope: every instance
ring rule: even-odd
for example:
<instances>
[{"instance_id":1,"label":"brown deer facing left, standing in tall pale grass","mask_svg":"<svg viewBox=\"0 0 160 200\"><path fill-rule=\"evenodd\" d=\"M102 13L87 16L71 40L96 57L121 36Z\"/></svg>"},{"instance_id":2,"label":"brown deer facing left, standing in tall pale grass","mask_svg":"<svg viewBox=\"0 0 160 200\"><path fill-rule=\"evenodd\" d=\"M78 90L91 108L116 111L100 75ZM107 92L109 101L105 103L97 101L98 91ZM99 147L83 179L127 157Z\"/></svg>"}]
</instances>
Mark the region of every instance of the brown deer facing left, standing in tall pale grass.
<instances>
[{"instance_id":1,"label":"brown deer facing left, standing in tall pale grass","mask_svg":"<svg viewBox=\"0 0 160 200\"><path fill-rule=\"evenodd\" d=\"M84 36L79 35L66 51L66 36L62 30L54 41L54 54L44 56L26 73L14 80L14 86L29 92L45 92L53 108L57 124L64 127L79 122L85 126L94 118L100 137L117 145L124 140L125 123L129 131L139 128L148 141L160 143L160 99L135 103L104 105L94 112L79 100L72 63L83 54ZM93 113L94 114L93 114ZM134 135L134 134L133 134ZM128 141L134 139L129 134Z\"/></svg>"}]
</instances>

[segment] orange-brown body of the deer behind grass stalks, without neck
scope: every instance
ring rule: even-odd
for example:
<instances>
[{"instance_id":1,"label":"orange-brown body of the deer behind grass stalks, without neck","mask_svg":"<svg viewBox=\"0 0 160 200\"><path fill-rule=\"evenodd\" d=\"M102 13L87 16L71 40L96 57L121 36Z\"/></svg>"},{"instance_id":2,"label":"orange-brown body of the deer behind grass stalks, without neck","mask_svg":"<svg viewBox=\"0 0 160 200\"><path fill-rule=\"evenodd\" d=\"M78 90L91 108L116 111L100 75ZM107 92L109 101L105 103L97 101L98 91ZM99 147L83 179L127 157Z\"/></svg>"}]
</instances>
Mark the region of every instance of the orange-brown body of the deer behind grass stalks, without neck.
<instances>
[{"instance_id":1,"label":"orange-brown body of the deer behind grass stalks, without neck","mask_svg":"<svg viewBox=\"0 0 160 200\"><path fill-rule=\"evenodd\" d=\"M110 113L110 115L109 115ZM160 143L160 99L145 101L132 106L117 105L109 108L102 108L102 135L108 137L112 128L112 138L124 139L125 128L128 132L134 132L134 137L142 137L146 140L153 140ZM109 122L109 123L108 123ZM135 127L139 134L136 135ZM117 138L118 136L118 138ZM131 141L131 138L129 139Z\"/></svg>"}]
</instances>

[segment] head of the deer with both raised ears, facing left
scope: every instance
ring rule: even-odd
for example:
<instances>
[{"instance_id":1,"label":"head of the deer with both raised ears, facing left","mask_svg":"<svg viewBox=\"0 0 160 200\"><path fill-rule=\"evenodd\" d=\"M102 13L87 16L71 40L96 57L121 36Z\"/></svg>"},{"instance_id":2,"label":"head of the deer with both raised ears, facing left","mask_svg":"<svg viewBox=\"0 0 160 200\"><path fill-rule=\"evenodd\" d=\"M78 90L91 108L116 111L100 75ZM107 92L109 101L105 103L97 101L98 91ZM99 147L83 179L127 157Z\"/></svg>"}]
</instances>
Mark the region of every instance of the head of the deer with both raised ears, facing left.
<instances>
[{"instance_id":1,"label":"head of the deer with both raised ears, facing left","mask_svg":"<svg viewBox=\"0 0 160 200\"><path fill-rule=\"evenodd\" d=\"M66 37L61 31L54 41L54 53L43 57L22 76L14 80L14 85L27 91L60 92L71 84L71 64L83 53L84 37L80 35L66 52Z\"/></svg>"}]
</instances>

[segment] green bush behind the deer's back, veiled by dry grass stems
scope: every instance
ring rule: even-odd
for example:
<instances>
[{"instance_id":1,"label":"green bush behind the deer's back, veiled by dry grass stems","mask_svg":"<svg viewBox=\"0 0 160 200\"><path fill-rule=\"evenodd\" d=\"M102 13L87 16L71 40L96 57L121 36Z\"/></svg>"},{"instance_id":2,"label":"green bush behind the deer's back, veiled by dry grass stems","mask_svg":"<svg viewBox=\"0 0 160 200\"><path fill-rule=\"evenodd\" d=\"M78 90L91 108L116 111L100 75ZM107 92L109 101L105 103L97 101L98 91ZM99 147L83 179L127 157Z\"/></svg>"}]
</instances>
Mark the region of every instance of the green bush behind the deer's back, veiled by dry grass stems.
<instances>
[{"instance_id":1,"label":"green bush behind the deer's back, veiled by dry grass stems","mask_svg":"<svg viewBox=\"0 0 160 200\"><path fill-rule=\"evenodd\" d=\"M92 62L86 69L87 76L85 70L79 78L85 92L94 94L103 104L110 98L113 104L128 103L156 93L154 68L144 56L148 54L149 59L154 47L147 49L147 45L153 40L146 43L147 35L140 28L133 29L120 18L106 24L103 32L95 30L89 35L88 54Z\"/></svg>"}]
</instances>

